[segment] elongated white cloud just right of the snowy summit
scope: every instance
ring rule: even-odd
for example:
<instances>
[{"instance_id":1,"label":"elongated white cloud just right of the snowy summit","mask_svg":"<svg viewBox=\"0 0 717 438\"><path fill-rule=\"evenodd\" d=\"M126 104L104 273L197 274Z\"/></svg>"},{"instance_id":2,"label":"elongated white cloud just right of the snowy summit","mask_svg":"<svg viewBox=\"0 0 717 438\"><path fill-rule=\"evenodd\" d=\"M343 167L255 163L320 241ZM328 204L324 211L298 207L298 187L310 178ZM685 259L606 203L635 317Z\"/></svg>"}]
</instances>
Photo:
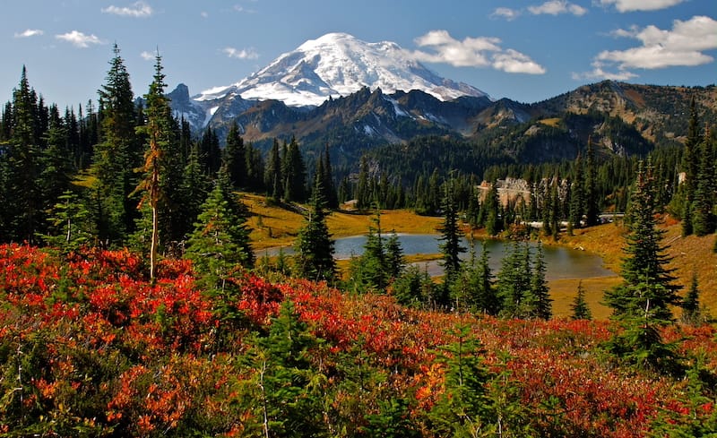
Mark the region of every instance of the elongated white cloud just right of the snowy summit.
<instances>
[{"instance_id":1,"label":"elongated white cloud just right of the snowy summit","mask_svg":"<svg viewBox=\"0 0 717 438\"><path fill-rule=\"evenodd\" d=\"M500 47L501 40L494 37L454 39L446 30L431 30L416 39L419 47L413 56L428 63L451 64L455 67L492 67L506 73L542 74L545 68L530 56L512 48Z\"/></svg>"}]
</instances>

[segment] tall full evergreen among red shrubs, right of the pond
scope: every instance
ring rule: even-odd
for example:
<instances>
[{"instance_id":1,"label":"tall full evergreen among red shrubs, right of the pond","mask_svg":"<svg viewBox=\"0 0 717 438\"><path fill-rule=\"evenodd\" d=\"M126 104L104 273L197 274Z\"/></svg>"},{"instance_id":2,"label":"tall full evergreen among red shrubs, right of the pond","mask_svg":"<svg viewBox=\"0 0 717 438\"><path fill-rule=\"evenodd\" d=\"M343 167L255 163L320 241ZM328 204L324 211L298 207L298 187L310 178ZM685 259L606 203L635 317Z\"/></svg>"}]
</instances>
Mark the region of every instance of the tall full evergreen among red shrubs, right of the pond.
<instances>
[{"instance_id":1,"label":"tall full evergreen among red shrubs, right of the pond","mask_svg":"<svg viewBox=\"0 0 717 438\"><path fill-rule=\"evenodd\" d=\"M660 328L672 321L671 305L679 304L679 286L665 267L669 262L664 231L655 219L655 180L652 163L640 162L632 203L622 264L622 285L605 293L605 303L624 331L610 339L608 348L627 362L644 368L675 371L676 354L662 342Z\"/></svg>"}]
</instances>

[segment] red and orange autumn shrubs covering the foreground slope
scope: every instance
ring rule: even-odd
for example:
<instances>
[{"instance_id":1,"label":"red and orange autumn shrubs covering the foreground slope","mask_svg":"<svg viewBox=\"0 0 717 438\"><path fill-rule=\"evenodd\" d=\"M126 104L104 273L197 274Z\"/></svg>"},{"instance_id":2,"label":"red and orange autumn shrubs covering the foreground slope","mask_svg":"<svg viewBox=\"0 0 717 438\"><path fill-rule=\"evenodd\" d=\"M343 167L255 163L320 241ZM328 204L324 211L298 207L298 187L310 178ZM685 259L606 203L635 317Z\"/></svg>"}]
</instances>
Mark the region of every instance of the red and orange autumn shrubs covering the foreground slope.
<instances>
[{"instance_id":1,"label":"red and orange autumn shrubs covering the foreground slope","mask_svg":"<svg viewBox=\"0 0 717 438\"><path fill-rule=\"evenodd\" d=\"M127 251L0 246L0 435L436 436L457 327L485 367L486 435L717 423L714 390L695 380L717 373L711 326L664 330L698 370L672 378L607 357L609 322L425 312L241 272L208 294L190 262L160 262L154 283L146 271Z\"/></svg>"}]
</instances>

